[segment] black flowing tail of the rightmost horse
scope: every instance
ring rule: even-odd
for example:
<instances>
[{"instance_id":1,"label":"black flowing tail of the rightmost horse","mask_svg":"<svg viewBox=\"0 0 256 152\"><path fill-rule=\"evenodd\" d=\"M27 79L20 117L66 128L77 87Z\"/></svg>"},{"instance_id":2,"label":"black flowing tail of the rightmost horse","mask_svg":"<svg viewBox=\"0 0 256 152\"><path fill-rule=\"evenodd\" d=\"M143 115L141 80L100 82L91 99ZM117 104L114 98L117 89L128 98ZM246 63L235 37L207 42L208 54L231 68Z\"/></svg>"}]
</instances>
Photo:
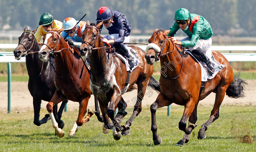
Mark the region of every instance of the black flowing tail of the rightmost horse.
<instances>
[{"instance_id":1,"label":"black flowing tail of the rightmost horse","mask_svg":"<svg viewBox=\"0 0 256 152\"><path fill-rule=\"evenodd\" d=\"M229 85L226 90L226 95L231 98L243 98L244 96L244 85L248 83L240 78L240 72L234 77L233 82Z\"/></svg>"}]
</instances>

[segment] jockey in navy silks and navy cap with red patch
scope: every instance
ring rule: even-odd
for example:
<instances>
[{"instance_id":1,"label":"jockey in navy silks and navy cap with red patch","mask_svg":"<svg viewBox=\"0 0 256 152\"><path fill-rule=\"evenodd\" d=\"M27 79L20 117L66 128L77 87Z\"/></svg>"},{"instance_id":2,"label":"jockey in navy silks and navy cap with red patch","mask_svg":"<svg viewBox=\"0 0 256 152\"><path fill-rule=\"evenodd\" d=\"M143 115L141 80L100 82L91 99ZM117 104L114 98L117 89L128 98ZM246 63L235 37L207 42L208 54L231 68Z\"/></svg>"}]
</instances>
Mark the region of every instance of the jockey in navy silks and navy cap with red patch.
<instances>
[{"instance_id":1,"label":"jockey in navy silks and navy cap with red patch","mask_svg":"<svg viewBox=\"0 0 256 152\"><path fill-rule=\"evenodd\" d=\"M97 19L98 24L99 22L103 21L103 25L107 28L108 34L107 36L103 37L103 42L108 44L113 44L117 51L121 54L125 55L128 59L128 63L132 68L134 66L133 57L129 54L126 46L130 42L130 32L131 26L126 18L126 16L119 11L112 11L108 7L101 7L97 12ZM101 32L103 25L99 28Z\"/></svg>"}]
</instances>

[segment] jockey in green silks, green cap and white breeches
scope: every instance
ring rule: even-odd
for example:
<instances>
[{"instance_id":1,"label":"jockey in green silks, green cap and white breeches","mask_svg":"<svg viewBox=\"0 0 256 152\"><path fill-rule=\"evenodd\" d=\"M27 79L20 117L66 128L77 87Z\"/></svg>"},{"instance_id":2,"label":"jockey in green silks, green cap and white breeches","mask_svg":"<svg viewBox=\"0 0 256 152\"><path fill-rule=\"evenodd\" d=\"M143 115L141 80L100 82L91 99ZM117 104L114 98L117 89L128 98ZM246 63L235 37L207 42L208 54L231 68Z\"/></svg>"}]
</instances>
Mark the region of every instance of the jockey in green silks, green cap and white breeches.
<instances>
[{"instance_id":1,"label":"jockey in green silks, green cap and white breeches","mask_svg":"<svg viewBox=\"0 0 256 152\"><path fill-rule=\"evenodd\" d=\"M175 23L170 28L169 34L171 41L176 45L188 48L193 53L199 55L209 68L211 76L214 73L214 66L203 51L207 51L212 45L212 27L204 17L197 14L190 14L187 9L181 8L175 12ZM181 28L188 37L177 41L174 37Z\"/></svg>"}]
</instances>

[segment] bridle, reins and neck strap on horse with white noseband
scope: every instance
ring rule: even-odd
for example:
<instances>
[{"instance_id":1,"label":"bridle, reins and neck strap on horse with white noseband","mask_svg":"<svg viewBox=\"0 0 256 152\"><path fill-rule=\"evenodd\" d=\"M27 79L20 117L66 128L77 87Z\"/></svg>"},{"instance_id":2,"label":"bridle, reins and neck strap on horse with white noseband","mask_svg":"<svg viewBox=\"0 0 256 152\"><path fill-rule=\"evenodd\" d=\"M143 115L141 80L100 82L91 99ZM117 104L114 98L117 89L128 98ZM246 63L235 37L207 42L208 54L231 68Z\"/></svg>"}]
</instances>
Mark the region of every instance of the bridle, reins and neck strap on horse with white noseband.
<instances>
[{"instance_id":1,"label":"bridle, reins and neck strap on horse with white noseband","mask_svg":"<svg viewBox=\"0 0 256 152\"><path fill-rule=\"evenodd\" d=\"M153 33L153 34L155 34L155 37L156 37L156 35L157 35L158 33L163 34L163 33L160 32L160 31L157 31L157 32L155 32L155 33ZM165 56L165 55L167 55L167 54L169 54L169 53L172 53L172 52L175 50L175 48L176 48L177 50L181 51L180 48L179 48L178 46L176 46L176 45L174 44L174 42L173 42L173 50L172 50L172 51L169 51L169 52L166 52L165 54L162 54L162 52L163 52L163 50L164 50L164 48L165 48L166 41L167 41L167 39L169 39L165 34L163 34L163 35L164 35L164 37L165 37L165 41L164 41L164 45L163 45L161 51L160 51L160 52L157 52L157 51L155 51L155 49L153 49L153 50L155 51L155 61L158 61L161 56ZM152 43L154 43L155 37L154 37L154 40L153 40ZM169 42L169 47L168 47L168 49L169 49L171 42L170 42L170 41L168 41L168 42ZM179 51L178 51L178 52L179 52ZM179 54L180 54L180 52L179 52ZM181 58L183 58L182 55L180 55L180 56L181 56ZM184 61L183 61L183 59L182 59L182 66L181 66L181 69L180 69L180 73L181 73L181 71L182 71L182 69L183 69L183 62L184 62ZM176 76L176 77L174 77L174 78L167 78L167 77L163 76L162 73L161 73L161 76L164 77L165 79L173 80L173 79L178 78L178 77L180 76L180 73L179 73L178 76Z\"/></svg>"}]
</instances>

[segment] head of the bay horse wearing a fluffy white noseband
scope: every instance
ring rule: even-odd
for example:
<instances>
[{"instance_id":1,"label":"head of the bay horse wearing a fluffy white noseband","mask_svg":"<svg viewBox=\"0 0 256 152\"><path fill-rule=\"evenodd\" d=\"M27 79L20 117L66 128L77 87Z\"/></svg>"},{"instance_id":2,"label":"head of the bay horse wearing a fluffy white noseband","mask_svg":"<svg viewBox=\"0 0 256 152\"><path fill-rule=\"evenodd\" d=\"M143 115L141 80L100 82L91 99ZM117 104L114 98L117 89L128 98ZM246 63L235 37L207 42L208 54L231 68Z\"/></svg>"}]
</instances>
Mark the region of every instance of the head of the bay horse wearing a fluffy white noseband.
<instances>
[{"instance_id":1,"label":"head of the bay horse wearing a fluffy white noseband","mask_svg":"<svg viewBox=\"0 0 256 152\"><path fill-rule=\"evenodd\" d=\"M166 43L169 41L169 45L172 45L169 38L166 36L169 33L170 30L158 30L156 29L153 33L153 35L148 39L148 46L146 48L147 54L145 55L145 58L147 60L147 63L149 65L154 64L155 61L158 61L160 58L160 55L163 53ZM168 48L166 47L165 50Z\"/></svg>"}]
</instances>

